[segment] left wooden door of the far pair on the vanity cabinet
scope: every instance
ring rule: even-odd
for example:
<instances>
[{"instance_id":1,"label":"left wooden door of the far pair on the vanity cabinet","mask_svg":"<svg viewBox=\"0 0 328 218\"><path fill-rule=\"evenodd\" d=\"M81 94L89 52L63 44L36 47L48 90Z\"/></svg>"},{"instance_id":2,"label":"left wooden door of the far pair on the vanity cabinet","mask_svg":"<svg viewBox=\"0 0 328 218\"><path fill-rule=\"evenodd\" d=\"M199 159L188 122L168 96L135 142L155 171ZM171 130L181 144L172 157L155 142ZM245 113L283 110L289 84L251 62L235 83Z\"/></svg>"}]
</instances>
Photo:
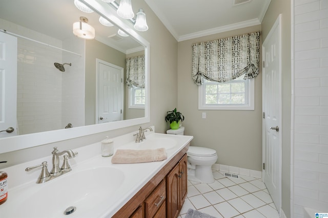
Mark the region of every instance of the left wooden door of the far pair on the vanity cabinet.
<instances>
[{"instance_id":1,"label":"left wooden door of the far pair on the vanity cabinet","mask_svg":"<svg viewBox=\"0 0 328 218\"><path fill-rule=\"evenodd\" d=\"M180 166L177 164L167 176L167 216L177 217L180 211Z\"/></svg>"}]
</instances>

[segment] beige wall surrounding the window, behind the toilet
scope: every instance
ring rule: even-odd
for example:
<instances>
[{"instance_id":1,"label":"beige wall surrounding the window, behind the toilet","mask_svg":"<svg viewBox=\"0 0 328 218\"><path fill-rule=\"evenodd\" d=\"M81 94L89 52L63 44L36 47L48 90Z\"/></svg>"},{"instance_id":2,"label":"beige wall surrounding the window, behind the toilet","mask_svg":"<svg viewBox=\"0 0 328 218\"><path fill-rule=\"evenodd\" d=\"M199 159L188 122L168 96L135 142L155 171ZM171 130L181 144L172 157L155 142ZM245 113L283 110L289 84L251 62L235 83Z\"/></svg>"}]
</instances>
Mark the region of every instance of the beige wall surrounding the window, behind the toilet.
<instances>
[{"instance_id":1,"label":"beige wall surrounding the window, behind the toilet","mask_svg":"<svg viewBox=\"0 0 328 218\"><path fill-rule=\"evenodd\" d=\"M255 78L254 111L198 110L198 86L191 78L192 44L260 31L253 26L199 37L178 43L178 111L185 115L185 134L194 136L191 145L217 151L218 164L261 170L262 100L261 73ZM206 112L206 119L202 119Z\"/></svg>"}]
</instances>

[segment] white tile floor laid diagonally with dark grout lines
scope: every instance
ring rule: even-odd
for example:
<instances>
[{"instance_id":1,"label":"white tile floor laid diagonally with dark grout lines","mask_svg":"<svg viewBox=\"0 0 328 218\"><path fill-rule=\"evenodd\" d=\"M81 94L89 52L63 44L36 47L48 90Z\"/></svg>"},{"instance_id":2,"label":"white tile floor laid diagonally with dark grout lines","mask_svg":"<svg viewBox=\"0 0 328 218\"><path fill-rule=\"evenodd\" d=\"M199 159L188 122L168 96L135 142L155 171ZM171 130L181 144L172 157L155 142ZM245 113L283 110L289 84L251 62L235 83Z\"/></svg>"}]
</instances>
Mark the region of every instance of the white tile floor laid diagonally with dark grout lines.
<instances>
[{"instance_id":1,"label":"white tile floor laid diagonally with dark grout lines","mask_svg":"<svg viewBox=\"0 0 328 218\"><path fill-rule=\"evenodd\" d=\"M213 170L215 182L202 184L188 181L188 194L178 218L189 208L217 218L278 218L279 214L264 183L257 178L227 178Z\"/></svg>"}]
</instances>

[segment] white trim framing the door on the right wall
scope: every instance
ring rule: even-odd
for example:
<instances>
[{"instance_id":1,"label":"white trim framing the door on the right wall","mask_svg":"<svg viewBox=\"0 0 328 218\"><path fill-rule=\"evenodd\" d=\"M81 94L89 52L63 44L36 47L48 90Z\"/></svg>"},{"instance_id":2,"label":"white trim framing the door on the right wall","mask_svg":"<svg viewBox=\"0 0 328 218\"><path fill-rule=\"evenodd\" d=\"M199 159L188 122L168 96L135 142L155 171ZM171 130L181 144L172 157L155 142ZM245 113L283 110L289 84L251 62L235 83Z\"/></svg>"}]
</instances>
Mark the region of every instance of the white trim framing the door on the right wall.
<instances>
[{"instance_id":1,"label":"white trim framing the door on the right wall","mask_svg":"<svg viewBox=\"0 0 328 218\"><path fill-rule=\"evenodd\" d=\"M279 193L278 193L278 195L279 195L279 205L278 205L278 208L277 208L277 211L278 211L278 213L279 214L281 214L281 201L282 201L282 191L281 191L281 183L282 183L282 181L281 181L281 178L282 178L282 176L281 176L281 173L282 173L282 91L281 91L281 69L282 69L282 67L281 67L281 14L279 14L278 15L278 17L277 17L277 19L276 19L276 21L275 21L275 23L274 23L274 25L272 26L272 28L271 28L271 30L270 30L270 32L269 32L269 34L267 35L267 38L269 38L272 34L273 34L273 32L274 32L274 30L276 29L276 28L278 28L278 31L279 31L279 33L278 33L278 37L279 37L279 96L280 96L280 99L279 99L279 104L280 104L280 106L279 106L279 114L280 114L280 116L279 116L279 132L280 132L280 137L279 137L279 179L278 179L278 181L279 181ZM264 60L264 49L263 49L263 44L265 43L265 41L267 40L267 38L265 38L265 40L262 42L262 61ZM262 62L263 63L263 62ZM263 70L263 68L264 68L264 66L263 66L263 64L262 64L262 70ZM263 73L264 73L264 71L262 71ZM265 78L264 78L264 75L262 75L262 84L263 84L263 80L264 80ZM263 90L262 90L262 113L264 113L264 111L263 111L263 108L264 108L264 101L265 101L265 99L263 99ZM265 162L265 149L264 149L264 146L265 146L265 120L264 119L262 119L262 163L265 163L265 165L267 165L266 163L267 162ZM266 168L267 166L265 166L265 168ZM262 181L264 182L265 180L264 180L264 176L265 176L265 169L263 169L262 168Z\"/></svg>"}]
</instances>

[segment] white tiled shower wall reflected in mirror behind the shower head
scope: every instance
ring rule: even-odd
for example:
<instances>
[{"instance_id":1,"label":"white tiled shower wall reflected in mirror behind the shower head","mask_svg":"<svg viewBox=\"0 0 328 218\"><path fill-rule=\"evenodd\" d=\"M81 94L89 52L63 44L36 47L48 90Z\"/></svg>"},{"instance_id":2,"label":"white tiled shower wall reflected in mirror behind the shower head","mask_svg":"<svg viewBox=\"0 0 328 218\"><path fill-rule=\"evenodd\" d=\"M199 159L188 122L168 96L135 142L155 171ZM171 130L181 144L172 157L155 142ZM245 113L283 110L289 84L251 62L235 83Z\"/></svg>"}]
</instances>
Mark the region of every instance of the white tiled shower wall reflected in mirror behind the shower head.
<instances>
[{"instance_id":1,"label":"white tiled shower wall reflected in mirror behind the shower head","mask_svg":"<svg viewBox=\"0 0 328 218\"><path fill-rule=\"evenodd\" d=\"M76 54L17 37L17 123L18 133L29 134L84 125L84 40L65 41L0 19L2 29L51 46L76 49ZM73 39L76 39L72 35ZM72 62L65 72L54 62Z\"/></svg>"}]
</instances>

